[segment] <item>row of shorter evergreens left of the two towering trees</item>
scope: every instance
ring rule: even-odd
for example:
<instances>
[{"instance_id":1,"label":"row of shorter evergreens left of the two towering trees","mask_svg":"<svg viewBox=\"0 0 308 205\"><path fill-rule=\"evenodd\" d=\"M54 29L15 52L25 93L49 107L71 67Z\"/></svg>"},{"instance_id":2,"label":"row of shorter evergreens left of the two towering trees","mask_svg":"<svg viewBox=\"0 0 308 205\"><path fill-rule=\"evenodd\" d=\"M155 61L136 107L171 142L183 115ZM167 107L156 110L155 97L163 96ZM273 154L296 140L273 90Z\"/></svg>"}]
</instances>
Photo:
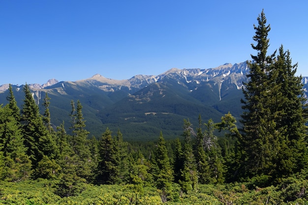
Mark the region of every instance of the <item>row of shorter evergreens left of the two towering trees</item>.
<instances>
[{"instance_id":1,"label":"row of shorter evergreens left of the two towering trees","mask_svg":"<svg viewBox=\"0 0 308 205\"><path fill-rule=\"evenodd\" d=\"M229 177L226 173L235 169L229 164L235 155L234 140L221 138L219 145L213 134L216 128L224 129L224 121L230 127L235 126L231 114L222 117L221 123L210 120L205 124L205 131L201 116L196 131L189 120L184 120L182 139L168 142L167 149L160 133L158 142L149 144L145 155L124 142L120 130L112 135L107 128L100 139L89 139L79 101L77 104L71 101L71 134L66 133L64 124L54 130L47 93L41 115L27 84L24 92L21 109L11 86L8 103L0 107L1 180L57 178L57 194L62 197L80 193L83 183L134 184L140 192L143 187L154 185L162 191L165 200L175 183L188 192L196 189L198 183L233 180L233 175Z\"/></svg>"}]
</instances>

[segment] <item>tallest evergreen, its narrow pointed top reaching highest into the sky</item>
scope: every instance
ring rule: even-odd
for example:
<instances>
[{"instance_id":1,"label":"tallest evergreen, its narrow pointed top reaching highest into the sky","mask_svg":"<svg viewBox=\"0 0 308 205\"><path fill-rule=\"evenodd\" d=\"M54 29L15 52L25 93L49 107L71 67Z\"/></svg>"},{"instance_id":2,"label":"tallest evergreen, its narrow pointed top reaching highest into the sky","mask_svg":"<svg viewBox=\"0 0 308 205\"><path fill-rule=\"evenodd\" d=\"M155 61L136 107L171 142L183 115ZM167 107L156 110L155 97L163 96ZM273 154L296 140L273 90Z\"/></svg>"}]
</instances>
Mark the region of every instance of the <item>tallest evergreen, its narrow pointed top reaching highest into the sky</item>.
<instances>
[{"instance_id":1,"label":"tallest evergreen, its narrow pointed top reaching highest into the sky","mask_svg":"<svg viewBox=\"0 0 308 205\"><path fill-rule=\"evenodd\" d=\"M268 101L269 81L268 73L273 69L275 53L268 56L269 47L268 32L271 30L270 25L266 25L266 17L262 11L257 18L258 26L254 25L255 35L253 40L257 45L251 44L252 49L257 51L257 55L251 55L252 62L248 63L249 73L247 74L248 82L244 84L243 92L245 100L242 108L242 123L244 125L245 138L243 147L247 156L245 164L246 174L257 175L264 173L272 165L269 163L271 157L271 145L269 139L273 139L272 133L269 132L271 124L268 122L269 107L266 106Z\"/></svg>"}]
</instances>

